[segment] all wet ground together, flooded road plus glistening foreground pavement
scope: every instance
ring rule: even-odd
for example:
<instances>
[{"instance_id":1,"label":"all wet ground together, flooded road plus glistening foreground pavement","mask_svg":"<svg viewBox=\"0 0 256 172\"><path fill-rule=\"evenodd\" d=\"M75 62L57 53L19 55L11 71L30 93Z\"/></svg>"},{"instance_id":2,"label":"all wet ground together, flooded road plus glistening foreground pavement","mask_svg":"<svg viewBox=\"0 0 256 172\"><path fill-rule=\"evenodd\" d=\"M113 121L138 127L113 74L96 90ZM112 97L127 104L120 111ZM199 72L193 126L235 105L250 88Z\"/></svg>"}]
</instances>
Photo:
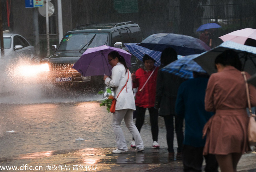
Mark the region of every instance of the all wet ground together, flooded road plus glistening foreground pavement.
<instances>
[{"instance_id":1,"label":"all wet ground together, flooded road plus glistening foreground pavement","mask_svg":"<svg viewBox=\"0 0 256 172\"><path fill-rule=\"evenodd\" d=\"M22 100L16 100L10 93L0 94L0 166L29 164L42 166L43 170L39 171L45 171L51 164L70 168L96 164L98 171L183 171L182 161L168 161L162 117L159 117L160 149L152 148L147 111L140 132L145 151L135 153L129 148L126 154L113 154L116 142L111 126L112 113L100 107L102 96L70 92L68 95L71 96L39 96L36 102L25 97L21 103ZM122 127L129 146L132 136L124 123ZM76 140L79 138L84 140ZM255 152L243 155L239 171L256 171L255 155Z\"/></svg>"}]
</instances>

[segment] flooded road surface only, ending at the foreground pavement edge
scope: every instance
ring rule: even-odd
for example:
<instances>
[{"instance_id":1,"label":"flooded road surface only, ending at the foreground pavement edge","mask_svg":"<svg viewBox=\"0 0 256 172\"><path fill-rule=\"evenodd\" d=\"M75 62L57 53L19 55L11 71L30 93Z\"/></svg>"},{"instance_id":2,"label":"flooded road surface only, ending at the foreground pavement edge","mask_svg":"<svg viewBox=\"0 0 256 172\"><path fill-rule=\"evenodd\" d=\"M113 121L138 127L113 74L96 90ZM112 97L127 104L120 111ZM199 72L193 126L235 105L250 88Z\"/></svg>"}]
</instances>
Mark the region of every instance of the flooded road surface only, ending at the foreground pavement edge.
<instances>
[{"instance_id":1,"label":"flooded road surface only, ending at the foreground pavement edge","mask_svg":"<svg viewBox=\"0 0 256 172\"><path fill-rule=\"evenodd\" d=\"M1 100L8 100L8 96L2 95ZM55 100L48 99L48 103L0 103L0 157L116 146L111 126L112 113L108 113L106 107L100 107L98 100L101 96L91 94L88 97L61 97ZM124 123L122 126L129 145L132 136ZM167 147L162 117L159 117L159 126L159 144ZM152 146L148 114L141 136L145 146ZM84 140L78 141L78 138Z\"/></svg>"}]
</instances>

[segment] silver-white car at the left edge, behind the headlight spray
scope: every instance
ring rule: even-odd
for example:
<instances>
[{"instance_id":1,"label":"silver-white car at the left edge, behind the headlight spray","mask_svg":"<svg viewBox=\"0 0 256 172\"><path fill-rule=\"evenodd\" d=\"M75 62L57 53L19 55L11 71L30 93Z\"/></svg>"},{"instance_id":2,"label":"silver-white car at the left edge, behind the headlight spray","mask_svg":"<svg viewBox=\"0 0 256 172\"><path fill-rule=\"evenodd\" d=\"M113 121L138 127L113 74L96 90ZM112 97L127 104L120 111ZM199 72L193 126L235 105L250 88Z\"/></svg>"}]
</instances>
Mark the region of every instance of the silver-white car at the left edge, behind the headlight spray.
<instances>
[{"instance_id":1,"label":"silver-white car at the left edge, behind the headlight spray","mask_svg":"<svg viewBox=\"0 0 256 172\"><path fill-rule=\"evenodd\" d=\"M3 34L4 38L4 56L18 57L25 56L33 59L35 48L19 34ZM1 51L1 49L0 49ZM1 56L1 54L0 54Z\"/></svg>"}]
</instances>

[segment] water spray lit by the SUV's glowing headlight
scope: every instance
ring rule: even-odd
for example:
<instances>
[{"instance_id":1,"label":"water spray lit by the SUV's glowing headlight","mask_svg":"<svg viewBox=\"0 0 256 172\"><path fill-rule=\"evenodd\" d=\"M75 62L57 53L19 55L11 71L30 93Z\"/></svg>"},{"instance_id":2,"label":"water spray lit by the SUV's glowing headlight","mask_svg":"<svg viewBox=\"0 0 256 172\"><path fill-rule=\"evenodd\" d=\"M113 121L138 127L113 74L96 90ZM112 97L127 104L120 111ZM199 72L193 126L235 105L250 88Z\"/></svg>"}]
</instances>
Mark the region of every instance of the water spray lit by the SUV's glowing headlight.
<instances>
[{"instance_id":1,"label":"water spray lit by the SUV's glowing headlight","mask_svg":"<svg viewBox=\"0 0 256 172\"><path fill-rule=\"evenodd\" d=\"M98 101L102 95L90 87L54 86L40 73L40 64L29 58L0 58L0 103Z\"/></svg>"}]
</instances>

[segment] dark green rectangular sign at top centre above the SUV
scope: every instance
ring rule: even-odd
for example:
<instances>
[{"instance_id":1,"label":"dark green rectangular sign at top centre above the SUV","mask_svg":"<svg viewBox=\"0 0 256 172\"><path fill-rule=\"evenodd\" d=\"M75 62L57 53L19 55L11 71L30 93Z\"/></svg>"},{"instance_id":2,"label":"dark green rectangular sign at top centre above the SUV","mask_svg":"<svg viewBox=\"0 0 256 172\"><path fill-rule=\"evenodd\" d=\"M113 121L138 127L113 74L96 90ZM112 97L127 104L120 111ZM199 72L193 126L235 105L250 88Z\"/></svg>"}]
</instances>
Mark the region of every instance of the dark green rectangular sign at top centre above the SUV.
<instances>
[{"instance_id":1,"label":"dark green rectangular sign at top centre above the SUV","mask_svg":"<svg viewBox=\"0 0 256 172\"><path fill-rule=\"evenodd\" d=\"M117 13L138 12L138 0L114 0Z\"/></svg>"}]
</instances>

